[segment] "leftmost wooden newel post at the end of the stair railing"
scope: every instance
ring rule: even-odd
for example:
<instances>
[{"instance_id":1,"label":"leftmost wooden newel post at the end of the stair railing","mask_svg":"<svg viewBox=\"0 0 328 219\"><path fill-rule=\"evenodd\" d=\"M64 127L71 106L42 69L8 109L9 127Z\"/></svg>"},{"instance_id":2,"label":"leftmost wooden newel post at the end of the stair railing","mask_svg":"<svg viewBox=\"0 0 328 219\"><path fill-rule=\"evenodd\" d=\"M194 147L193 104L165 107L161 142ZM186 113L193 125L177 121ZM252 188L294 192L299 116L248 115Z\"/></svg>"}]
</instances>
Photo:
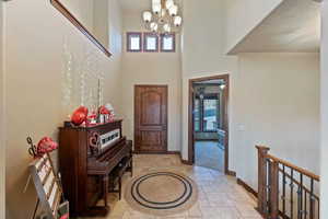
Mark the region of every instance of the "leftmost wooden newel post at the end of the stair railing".
<instances>
[{"instance_id":1,"label":"leftmost wooden newel post at the end of the stair railing","mask_svg":"<svg viewBox=\"0 0 328 219\"><path fill-rule=\"evenodd\" d=\"M267 191L267 154L270 148L263 146L256 146L258 152L258 211L265 216L268 212L268 191Z\"/></svg>"}]
</instances>

